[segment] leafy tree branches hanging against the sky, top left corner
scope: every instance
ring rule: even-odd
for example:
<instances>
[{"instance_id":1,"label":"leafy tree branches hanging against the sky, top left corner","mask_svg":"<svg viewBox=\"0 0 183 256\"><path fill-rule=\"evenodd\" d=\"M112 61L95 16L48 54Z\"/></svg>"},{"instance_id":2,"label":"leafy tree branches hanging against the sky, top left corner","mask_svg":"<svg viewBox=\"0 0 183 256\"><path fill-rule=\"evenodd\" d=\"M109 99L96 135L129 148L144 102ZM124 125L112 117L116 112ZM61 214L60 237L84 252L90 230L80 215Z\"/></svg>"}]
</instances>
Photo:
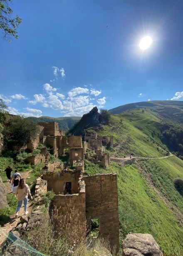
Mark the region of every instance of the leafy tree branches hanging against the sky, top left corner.
<instances>
[{"instance_id":1,"label":"leafy tree branches hanging against the sky, top left corner","mask_svg":"<svg viewBox=\"0 0 183 256\"><path fill-rule=\"evenodd\" d=\"M11 17L13 10L9 7L9 3L12 0L0 0L0 29L4 39L8 39L11 36L18 38L17 28L22 22L22 19L16 15L15 18Z\"/></svg>"}]
</instances>

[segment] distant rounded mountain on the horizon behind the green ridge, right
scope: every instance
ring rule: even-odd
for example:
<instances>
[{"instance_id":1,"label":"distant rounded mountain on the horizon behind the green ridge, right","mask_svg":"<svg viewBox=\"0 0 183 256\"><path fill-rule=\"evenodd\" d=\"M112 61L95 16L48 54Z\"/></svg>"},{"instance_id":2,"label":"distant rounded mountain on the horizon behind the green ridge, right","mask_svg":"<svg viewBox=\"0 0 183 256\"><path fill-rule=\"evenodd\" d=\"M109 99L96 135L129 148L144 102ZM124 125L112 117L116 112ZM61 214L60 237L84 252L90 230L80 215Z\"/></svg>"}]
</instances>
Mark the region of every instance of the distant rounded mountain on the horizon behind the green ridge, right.
<instances>
[{"instance_id":1,"label":"distant rounded mountain on the horizon behind the green ridge, right","mask_svg":"<svg viewBox=\"0 0 183 256\"><path fill-rule=\"evenodd\" d=\"M162 118L166 118L177 123L183 123L183 101L177 100L153 100L130 103L109 109L109 112L111 114L120 114L126 110L136 108L150 109Z\"/></svg>"}]
</instances>

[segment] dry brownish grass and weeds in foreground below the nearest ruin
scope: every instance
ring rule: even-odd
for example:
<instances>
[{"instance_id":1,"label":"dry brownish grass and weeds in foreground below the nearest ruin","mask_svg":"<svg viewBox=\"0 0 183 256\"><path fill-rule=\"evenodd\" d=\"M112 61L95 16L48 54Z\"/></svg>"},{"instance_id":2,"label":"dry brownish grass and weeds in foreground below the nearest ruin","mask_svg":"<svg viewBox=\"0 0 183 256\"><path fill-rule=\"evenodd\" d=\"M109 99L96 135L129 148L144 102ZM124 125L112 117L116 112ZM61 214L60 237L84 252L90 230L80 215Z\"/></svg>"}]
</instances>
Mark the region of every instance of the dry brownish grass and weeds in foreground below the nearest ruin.
<instances>
[{"instance_id":1,"label":"dry brownish grass and weeds in foreground below the nearest ruin","mask_svg":"<svg viewBox=\"0 0 183 256\"><path fill-rule=\"evenodd\" d=\"M23 239L48 256L93 256L102 253L105 256L110 255L106 241L87 241L86 229L75 208L62 216L59 216L59 209L55 210L52 219L43 211L40 224L25 233Z\"/></svg>"}]
</instances>

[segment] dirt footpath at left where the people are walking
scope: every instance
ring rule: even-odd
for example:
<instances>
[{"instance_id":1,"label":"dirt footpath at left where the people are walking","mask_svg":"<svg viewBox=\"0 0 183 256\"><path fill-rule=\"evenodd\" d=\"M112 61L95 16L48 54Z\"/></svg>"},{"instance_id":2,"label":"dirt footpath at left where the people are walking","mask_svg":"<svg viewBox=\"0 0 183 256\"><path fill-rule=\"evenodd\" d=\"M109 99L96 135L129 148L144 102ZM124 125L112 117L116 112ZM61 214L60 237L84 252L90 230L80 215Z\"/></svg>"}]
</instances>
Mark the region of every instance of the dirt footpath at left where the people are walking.
<instances>
[{"instance_id":1,"label":"dirt footpath at left where the people are walking","mask_svg":"<svg viewBox=\"0 0 183 256\"><path fill-rule=\"evenodd\" d=\"M32 170L26 171L24 173L21 173L22 178L28 178L29 174L31 173ZM4 183L6 188L7 188L7 193L11 193L10 189L10 183L6 182ZM30 203L30 200L28 201L28 206L27 206L27 211L30 213L32 210L32 206ZM0 245L3 243L5 238L8 236L8 232L12 230L15 226L17 226L18 221L20 221L20 216L24 215L24 207L22 203L22 207L20 208L19 211L19 216L18 218L15 218L15 213L10 217L10 222L6 223L3 227L0 227Z\"/></svg>"}]
</instances>

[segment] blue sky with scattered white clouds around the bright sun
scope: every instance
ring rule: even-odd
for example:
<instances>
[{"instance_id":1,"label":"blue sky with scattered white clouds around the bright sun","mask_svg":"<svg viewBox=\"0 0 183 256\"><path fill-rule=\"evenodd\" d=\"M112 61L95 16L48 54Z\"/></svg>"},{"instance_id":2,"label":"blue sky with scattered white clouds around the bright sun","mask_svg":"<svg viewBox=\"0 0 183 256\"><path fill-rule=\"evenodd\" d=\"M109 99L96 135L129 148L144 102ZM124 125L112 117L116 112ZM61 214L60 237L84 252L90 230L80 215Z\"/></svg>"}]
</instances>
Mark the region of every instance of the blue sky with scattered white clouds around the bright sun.
<instances>
[{"instance_id":1,"label":"blue sky with scattered white clouds around the bright sun","mask_svg":"<svg viewBox=\"0 0 183 256\"><path fill-rule=\"evenodd\" d=\"M95 105L183 100L182 0L13 0L12 9L19 38L0 39L10 113L81 116Z\"/></svg>"}]
</instances>

